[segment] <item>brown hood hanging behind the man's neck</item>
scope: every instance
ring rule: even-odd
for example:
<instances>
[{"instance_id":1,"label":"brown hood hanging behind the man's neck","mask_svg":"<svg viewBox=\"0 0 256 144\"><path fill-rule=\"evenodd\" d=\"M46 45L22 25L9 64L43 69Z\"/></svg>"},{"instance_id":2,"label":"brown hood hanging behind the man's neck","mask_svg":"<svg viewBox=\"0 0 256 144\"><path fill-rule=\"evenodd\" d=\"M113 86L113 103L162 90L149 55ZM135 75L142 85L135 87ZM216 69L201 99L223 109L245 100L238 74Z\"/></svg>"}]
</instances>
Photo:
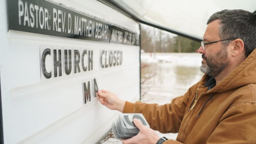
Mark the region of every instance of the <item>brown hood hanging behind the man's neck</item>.
<instances>
[{"instance_id":1,"label":"brown hood hanging behind the man's neck","mask_svg":"<svg viewBox=\"0 0 256 144\"><path fill-rule=\"evenodd\" d=\"M231 73L229 73L211 92L222 93L251 83L256 83L256 49ZM203 79L206 79L206 75ZM202 80L203 80L202 79Z\"/></svg>"}]
</instances>

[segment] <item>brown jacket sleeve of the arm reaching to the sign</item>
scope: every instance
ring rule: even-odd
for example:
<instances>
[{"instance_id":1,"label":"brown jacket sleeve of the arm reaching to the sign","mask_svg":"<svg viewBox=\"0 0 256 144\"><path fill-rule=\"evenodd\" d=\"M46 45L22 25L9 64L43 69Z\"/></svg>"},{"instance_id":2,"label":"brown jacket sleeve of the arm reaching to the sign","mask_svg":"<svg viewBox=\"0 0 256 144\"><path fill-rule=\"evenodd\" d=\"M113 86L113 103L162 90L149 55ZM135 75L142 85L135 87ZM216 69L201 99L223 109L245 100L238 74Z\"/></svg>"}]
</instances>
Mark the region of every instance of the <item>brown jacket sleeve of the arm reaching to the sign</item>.
<instances>
[{"instance_id":1,"label":"brown jacket sleeve of the arm reaching to the sign","mask_svg":"<svg viewBox=\"0 0 256 144\"><path fill-rule=\"evenodd\" d=\"M151 129L160 133L178 133L190 93L189 89L183 96L176 97L171 103L160 106L126 101L123 113L142 113Z\"/></svg>"}]
</instances>

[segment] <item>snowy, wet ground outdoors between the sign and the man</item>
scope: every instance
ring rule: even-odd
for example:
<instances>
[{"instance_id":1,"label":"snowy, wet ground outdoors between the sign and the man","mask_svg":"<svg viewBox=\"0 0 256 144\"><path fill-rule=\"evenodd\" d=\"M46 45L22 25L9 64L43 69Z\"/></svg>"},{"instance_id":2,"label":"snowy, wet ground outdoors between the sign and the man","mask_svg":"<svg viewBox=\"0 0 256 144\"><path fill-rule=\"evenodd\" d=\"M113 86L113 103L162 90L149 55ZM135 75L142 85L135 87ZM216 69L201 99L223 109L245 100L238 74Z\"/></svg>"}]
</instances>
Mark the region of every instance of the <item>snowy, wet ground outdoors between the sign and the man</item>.
<instances>
[{"instance_id":1,"label":"snowy, wet ground outdoors between the sign and the man","mask_svg":"<svg viewBox=\"0 0 256 144\"><path fill-rule=\"evenodd\" d=\"M158 103L159 105L170 103L177 96L186 93L188 88L201 79L200 71L202 57L199 53L141 53L141 63L150 64L150 68L142 69L141 76L147 76L154 71L144 87L148 87L146 94L141 98L142 102ZM145 90L144 90L145 91ZM143 90L142 90L142 93ZM169 139L176 139L178 134L161 134ZM109 138L103 144L122 144L121 141Z\"/></svg>"}]
</instances>

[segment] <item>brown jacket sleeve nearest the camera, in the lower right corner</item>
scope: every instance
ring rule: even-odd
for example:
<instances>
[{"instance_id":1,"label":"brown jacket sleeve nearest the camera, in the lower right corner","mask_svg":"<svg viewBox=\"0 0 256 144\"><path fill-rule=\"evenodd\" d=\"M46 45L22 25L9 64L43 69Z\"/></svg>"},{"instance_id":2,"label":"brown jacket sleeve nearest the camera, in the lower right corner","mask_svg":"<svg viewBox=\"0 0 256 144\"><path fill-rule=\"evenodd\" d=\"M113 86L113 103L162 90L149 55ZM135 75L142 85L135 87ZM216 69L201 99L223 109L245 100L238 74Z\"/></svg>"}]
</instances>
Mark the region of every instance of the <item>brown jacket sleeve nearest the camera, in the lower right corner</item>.
<instances>
[{"instance_id":1,"label":"brown jacket sleeve nearest the camera, in the lower right corner","mask_svg":"<svg viewBox=\"0 0 256 144\"><path fill-rule=\"evenodd\" d=\"M256 141L256 103L230 108L206 144L253 144Z\"/></svg>"}]
</instances>

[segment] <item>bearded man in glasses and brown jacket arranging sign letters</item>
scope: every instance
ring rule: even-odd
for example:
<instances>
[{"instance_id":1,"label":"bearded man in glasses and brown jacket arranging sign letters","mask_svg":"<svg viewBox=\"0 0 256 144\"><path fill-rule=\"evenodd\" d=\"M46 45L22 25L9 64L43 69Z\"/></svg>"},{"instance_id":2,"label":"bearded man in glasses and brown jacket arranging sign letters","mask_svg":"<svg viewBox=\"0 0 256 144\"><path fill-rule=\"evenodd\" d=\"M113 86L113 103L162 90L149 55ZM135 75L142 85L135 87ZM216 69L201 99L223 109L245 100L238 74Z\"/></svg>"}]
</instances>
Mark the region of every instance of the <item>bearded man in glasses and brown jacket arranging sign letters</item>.
<instances>
[{"instance_id":1,"label":"bearded man in glasses and brown jacket arranging sign letters","mask_svg":"<svg viewBox=\"0 0 256 144\"><path fill-rule=\"evenodd\" d=\"M203 78L169 104L131 103L111 92L98 92L109 109L142 113L161 133L179 132L176 140L162 139L134 119L140 132L124 144L256 142L256 16L245 10L214 13L201 44Z\"/></svg>"}]
</instances>

